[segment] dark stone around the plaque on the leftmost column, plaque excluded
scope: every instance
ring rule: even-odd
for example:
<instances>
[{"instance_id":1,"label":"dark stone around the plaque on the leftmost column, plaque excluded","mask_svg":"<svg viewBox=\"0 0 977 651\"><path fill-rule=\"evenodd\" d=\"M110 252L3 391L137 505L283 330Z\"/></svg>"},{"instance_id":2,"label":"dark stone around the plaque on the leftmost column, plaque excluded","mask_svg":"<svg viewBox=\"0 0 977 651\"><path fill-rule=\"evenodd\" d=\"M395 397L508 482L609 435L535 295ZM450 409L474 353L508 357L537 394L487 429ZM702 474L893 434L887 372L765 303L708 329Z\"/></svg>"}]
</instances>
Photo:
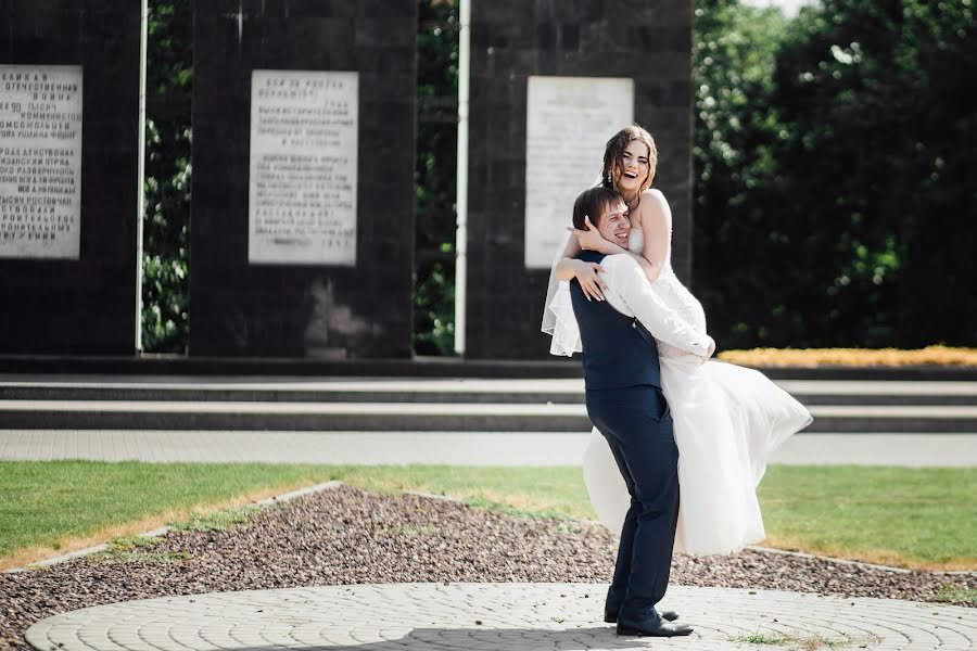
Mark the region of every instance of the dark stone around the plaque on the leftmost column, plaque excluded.
<instances>
[{"instance_id":1,"label":"dark stone around the plaque on the leftmost column, plaque excluded","mask_svg":"<svg viewBox=\"0 0 977 651\"><path fill-rule=\"evenodd\" d=\"M0 63L84 75L79 259L0 258L0 354L136 352L140 20L132 2L0 0Z\"/></svg>"}]
</instances>

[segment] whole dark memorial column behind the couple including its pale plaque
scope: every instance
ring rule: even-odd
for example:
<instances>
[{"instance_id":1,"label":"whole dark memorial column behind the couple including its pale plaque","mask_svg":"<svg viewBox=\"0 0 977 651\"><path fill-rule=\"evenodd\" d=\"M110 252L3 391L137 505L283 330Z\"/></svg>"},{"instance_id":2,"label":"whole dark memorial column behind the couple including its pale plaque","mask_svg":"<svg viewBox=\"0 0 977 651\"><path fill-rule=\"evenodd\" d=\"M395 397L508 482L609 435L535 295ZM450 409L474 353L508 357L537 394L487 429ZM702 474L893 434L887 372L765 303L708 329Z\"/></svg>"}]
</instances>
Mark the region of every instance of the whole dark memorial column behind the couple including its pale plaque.
<instances>
[{"instance_id":1,"label":"whole dark memorial column behind the couple including its pale plaque","mask_svg":"<svg viewBox=\"0 0 977 651\"><path fill-rule=\"evenodd\" d=\"M540 332L554 254L632 120L658 144L672 261L689 279L691 3L470 1L466 355L554 359Z\"/></svg>"}]
</instances>

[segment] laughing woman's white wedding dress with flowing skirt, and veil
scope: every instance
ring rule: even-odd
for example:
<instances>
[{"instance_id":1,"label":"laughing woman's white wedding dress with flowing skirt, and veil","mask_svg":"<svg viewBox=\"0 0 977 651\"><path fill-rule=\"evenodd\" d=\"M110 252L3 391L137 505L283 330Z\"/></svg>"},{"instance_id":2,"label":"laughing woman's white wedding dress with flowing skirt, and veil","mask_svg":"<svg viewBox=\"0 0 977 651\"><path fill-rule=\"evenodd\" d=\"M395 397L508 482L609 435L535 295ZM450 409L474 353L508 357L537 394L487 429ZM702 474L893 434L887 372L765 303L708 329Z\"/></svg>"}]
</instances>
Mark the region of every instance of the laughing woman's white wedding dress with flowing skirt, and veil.
<instances>
[{"instance_id":1,"label":"laughing woman's white wedding dress with flowing skirt, and veil","mask_svg":"<svg viewBox=\"0 0 977 651\"><path fill-rule=\"evenodd\" d=\"M629 248L640 254L640 229ZM669 254L671 256L671 252ZM665 261L652 285L667 305L706 332L706 314ZM555 316L550 353L580 350L580 331L561 282L547 308ZM546 320L544 320L544 324ZM658 342L661 388L669 401L678 447L678 524L675 551L732 553L765 537L757 485L771 452L808 426L810 412L762 373L707 361ZM584 455L584 481L600 522L620 534L631 498L607 441L596 430Z\"/></svg>"}]
</instances>

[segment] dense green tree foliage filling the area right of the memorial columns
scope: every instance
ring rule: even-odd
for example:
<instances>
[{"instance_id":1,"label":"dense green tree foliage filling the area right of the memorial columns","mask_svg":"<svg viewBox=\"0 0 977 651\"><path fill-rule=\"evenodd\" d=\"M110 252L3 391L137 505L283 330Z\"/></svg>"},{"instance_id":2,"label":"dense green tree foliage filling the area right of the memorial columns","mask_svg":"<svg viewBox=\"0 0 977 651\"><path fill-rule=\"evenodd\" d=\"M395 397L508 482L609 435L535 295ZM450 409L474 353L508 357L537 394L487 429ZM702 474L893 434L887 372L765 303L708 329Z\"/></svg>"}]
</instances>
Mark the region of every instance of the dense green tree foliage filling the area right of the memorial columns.
<instances>
[{"instance_id":1,"label":"dense green tree foliage filling the area right of the memorial columns","mask_svg":"<svg viewBox=\"0 0 977 651\"><path fill-rule=\"evenodd\" d=\"M974 344L975 37L968 2L923 0L826 0L775 33L734 116L753 155L696 152L696 290L724 346Z\"/></svg>"}]
</instances>

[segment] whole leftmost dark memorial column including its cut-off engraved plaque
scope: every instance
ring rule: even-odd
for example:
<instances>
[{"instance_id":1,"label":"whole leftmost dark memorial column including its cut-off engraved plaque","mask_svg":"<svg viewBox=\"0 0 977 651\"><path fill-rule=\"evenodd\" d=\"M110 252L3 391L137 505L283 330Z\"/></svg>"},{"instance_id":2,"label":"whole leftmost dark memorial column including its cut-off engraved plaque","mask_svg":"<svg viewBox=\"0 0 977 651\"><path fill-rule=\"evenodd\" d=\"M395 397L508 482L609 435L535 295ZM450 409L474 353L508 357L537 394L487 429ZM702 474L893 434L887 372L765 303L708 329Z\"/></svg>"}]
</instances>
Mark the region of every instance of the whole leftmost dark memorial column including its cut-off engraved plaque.
<instances>
[{"instance_id":1,"label":"whole leftmost dark memorial column including its cut-off engraved plaque","mask_svg":"<svg viewBox=\"0 0 977 651\"><path fill-rule=\"evenodd\" d=\"M0 354L136 352L140 9L0 0Z\"/></svg>"}]
</instances>

